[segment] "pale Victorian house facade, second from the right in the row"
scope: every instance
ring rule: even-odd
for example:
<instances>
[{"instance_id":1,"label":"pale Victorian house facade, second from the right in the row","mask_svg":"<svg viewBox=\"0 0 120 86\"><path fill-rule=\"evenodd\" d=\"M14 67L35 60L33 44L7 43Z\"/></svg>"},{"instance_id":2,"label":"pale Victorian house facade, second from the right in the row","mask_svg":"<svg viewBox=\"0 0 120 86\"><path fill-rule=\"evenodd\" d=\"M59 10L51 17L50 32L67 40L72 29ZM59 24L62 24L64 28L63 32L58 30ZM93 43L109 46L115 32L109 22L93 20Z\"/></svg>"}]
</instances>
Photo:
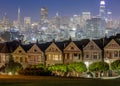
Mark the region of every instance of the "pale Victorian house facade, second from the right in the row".
<instances>
[{"instance_id":1,"label":"pale Victorian house facade, second from the right in the row","mask_svg":"<svg viewBox=\"0 0 120 86\"><path fill-rule=\"evenodd\" d=\"M85 63L102 61L102 50L92 40L83 48L83 54L83 62Z\"/></svg>"}]
</instances>

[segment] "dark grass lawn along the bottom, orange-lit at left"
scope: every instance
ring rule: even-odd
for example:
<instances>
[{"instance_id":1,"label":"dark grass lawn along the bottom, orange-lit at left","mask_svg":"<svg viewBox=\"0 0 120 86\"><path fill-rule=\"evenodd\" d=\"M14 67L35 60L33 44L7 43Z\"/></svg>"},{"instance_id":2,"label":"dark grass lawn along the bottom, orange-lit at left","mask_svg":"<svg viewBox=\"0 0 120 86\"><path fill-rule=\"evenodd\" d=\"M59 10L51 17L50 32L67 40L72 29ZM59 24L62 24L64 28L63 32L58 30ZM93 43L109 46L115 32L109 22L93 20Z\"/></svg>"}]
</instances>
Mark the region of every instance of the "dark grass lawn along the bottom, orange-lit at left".
<instances>
[{"instance_id":1,"label":"dark grass lawn along the bottom, orange-lit at left","mask_svg":"<svg viewBox=\"0 0 120 86\"><path fill-rule=\"evenodd\" d=\"M120 86L120 79L100 80L42 76L1 76L0 86Z\"/></svg>"}]
</instances>

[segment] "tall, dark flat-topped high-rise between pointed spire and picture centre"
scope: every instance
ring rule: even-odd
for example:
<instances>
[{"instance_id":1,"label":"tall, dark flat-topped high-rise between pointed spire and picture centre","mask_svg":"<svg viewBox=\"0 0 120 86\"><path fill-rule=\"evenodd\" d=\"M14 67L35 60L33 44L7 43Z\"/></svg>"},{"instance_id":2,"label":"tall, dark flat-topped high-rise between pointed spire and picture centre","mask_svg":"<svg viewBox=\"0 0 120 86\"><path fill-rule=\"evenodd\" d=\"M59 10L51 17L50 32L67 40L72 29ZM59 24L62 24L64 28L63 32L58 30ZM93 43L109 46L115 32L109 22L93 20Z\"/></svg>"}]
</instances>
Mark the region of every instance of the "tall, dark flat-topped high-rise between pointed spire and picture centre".
<instances>
[{"instance_id":1,"label":"tall, dark flat-topped high-rise between pointed spire and picture centre","mask_svg":"<svg viewBox=\"0 0 120 86\"><path fill-rule=\"evenodd\" d=\"M46 7L42 7L40 9L40 22L43 24L43 23L46 23L48 21L48 9Z\"/></svg>"}]
</instances>

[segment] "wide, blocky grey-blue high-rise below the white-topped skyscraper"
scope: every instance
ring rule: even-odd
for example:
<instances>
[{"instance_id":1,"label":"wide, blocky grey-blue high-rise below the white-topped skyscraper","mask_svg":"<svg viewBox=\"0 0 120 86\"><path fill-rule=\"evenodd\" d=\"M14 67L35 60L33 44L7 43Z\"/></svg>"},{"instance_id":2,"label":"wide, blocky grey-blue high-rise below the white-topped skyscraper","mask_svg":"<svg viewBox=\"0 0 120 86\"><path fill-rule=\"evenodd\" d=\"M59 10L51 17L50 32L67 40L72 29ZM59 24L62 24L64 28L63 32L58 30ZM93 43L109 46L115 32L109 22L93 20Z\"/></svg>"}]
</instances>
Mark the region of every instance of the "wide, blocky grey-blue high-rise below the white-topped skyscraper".
<instances>
[{"instance_id":1,"label":"wide, blocky grey-blue high-rise below the white-topped skyscraper","mask_svg":"<svg viewBox=\"0 0 120 86\"><path fill-rule=\"evenodd\" d=\"M89 39L102 38L105 35L105 20L91 18L86 21L86 36Z\"/></svg>"}]
</instances>

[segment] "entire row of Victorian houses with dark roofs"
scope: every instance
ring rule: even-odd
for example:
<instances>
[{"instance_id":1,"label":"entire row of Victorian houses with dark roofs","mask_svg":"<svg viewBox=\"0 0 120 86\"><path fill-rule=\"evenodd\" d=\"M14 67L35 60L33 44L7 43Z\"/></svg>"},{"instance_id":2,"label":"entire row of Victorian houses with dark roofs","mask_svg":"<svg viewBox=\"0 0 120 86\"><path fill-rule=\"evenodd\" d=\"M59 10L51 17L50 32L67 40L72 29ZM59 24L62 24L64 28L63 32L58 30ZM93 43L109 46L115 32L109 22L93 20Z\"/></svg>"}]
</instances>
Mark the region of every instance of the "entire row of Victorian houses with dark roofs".
<instances>
[{"instance_id":1,"label":"entire row of Victorian houses with dark roofs","mask_svg":"<svg viewBox=\"0 0 120 86\"><path fill-rule=\"evenodd\" d=\"M69 64L83 61L87 66L96 61L108 63L120 59L120 40L116 37L98 40L83 39L63 42L22 44L19 41L0 43L0 66L10 57L23 67L29 65Z\"/></svg>"}]
</instances>

